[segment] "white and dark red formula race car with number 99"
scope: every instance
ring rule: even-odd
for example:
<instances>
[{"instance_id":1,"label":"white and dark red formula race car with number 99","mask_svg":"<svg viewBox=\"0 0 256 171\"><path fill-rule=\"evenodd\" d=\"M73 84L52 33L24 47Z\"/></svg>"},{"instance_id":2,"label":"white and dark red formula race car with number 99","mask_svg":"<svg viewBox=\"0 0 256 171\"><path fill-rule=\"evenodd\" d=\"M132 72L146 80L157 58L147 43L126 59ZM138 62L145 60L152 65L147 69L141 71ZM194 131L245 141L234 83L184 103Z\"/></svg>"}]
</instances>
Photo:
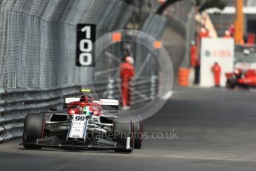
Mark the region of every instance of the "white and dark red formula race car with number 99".
<instances>
[{"instance_id":1,"label":"white and dark red formula race car with number 99","mask_svg":"<svg viewBox=\"0 0 256 171\"><path fill-rule=\"evenodd\" d=\"M141 149L142 120L118 117L118 100L69 97L65 107L66 112L28 114L21 144L26 149Z\"/></svg>"}]
</instances>

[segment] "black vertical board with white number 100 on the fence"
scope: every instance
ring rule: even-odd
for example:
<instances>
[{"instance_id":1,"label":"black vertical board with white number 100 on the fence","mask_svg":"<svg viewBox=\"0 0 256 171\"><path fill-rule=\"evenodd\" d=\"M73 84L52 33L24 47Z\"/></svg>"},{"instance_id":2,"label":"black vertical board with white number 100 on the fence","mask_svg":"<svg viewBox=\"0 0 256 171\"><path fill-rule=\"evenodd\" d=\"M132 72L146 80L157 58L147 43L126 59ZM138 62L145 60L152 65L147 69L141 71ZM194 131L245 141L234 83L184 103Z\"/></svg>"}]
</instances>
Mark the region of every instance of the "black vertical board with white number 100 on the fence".
<instances>
[{"instance_id":1,"label":"black vertical board with white number 100 on the fence","mask_svg":"<svg viewBox=\"0 0 256 171\"><path fill-rule=\"evenodd\" d=\"M94 66L95 40L96 25L77 25L77 66Z\"/></svg>"}]
</instances>

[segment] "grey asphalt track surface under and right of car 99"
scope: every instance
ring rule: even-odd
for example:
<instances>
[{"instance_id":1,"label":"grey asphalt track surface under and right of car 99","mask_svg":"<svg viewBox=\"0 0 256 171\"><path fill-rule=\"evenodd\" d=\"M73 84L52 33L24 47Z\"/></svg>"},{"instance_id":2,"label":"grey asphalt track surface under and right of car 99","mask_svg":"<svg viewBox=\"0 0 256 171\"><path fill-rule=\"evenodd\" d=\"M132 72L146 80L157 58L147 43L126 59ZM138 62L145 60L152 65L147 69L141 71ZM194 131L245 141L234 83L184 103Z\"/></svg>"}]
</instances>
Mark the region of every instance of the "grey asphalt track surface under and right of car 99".
<instances>
[{"instance_id":1,"label":"grey asphalt track surface under and right of car 99","mask_svg":"<svg viewBox=\"0 0 256 171\"><path fill-rule=\"evenodd\" d=\"M112 151L25 150L21 140L0 144L0 170L255 170L256 94L175 88L144 131L177 132L144 140L131 154ZM168 137L170 138L170 137Z\"/></svg>"}]
</instances>

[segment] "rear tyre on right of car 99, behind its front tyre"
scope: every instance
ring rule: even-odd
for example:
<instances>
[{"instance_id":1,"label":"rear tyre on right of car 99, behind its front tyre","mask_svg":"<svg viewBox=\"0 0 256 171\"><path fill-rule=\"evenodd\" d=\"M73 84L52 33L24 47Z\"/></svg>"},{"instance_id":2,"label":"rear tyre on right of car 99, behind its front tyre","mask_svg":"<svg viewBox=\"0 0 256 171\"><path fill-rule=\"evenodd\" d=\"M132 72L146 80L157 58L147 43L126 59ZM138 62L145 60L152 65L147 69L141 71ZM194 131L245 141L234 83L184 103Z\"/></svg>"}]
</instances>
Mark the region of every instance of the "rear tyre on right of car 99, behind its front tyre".
<instances>
[{"instance_id":1,"label":"rear tyre on right of car 99, behind its front tyre","mask_svg":"<svg viewBox=\"0 0 256 171\"><path fill-rule=\"evenodd\" d=\"M142 132L143 132L143 124L142 118L138 117L134 120L134 148L141 149L142 147Z\"/></svg>"}]
</instances>

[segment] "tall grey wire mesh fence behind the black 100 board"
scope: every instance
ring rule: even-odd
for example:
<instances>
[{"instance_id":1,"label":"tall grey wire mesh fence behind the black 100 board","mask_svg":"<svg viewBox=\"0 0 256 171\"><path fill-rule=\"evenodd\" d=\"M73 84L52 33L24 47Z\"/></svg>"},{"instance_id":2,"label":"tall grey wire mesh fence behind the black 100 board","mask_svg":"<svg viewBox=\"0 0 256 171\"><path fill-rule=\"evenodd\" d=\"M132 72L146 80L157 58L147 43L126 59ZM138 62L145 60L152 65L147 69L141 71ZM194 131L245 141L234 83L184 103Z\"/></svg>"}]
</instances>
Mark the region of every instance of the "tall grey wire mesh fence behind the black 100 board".
<instances>
[{"instance_id":1,"label":"tall grey wire mesh fence behind the black 100 board","mask_svg":"<svg viewBox=\"0 0 256 171\"><path fill-rule=\"evenodd\" d=\"M0 2L0 86L4 88L60 87L88 80L89 68L75 66L77 23L96 24L101 36L124 28L133 9L118 0Z\"/></svg>"}]
</instances>

